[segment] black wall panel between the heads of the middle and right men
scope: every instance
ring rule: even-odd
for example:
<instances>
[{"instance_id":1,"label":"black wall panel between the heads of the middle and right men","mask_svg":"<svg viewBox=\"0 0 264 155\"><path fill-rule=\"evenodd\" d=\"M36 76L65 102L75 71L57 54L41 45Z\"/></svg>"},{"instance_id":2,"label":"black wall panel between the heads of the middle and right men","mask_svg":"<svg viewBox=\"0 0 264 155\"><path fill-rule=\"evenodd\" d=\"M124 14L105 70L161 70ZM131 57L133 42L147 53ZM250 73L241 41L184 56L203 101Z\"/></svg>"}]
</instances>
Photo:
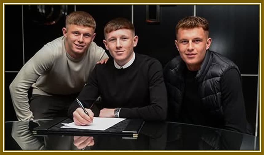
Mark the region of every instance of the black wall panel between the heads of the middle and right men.
<instances>
[{"instance_id":1,"label":"black wall panel between the heads of the middle and right men","mask_svg":"<svg viewBox=\"0 0 264 155\"><path fill-rule=\"evenodd\" d=\"M139 37L135 52L157 58L164 66L179 55L175 47L175 26L193 15L193 5L160 5L160 23L146 22L146 5L134 5L134 25Z\"/></svg>"}]
</instances>

